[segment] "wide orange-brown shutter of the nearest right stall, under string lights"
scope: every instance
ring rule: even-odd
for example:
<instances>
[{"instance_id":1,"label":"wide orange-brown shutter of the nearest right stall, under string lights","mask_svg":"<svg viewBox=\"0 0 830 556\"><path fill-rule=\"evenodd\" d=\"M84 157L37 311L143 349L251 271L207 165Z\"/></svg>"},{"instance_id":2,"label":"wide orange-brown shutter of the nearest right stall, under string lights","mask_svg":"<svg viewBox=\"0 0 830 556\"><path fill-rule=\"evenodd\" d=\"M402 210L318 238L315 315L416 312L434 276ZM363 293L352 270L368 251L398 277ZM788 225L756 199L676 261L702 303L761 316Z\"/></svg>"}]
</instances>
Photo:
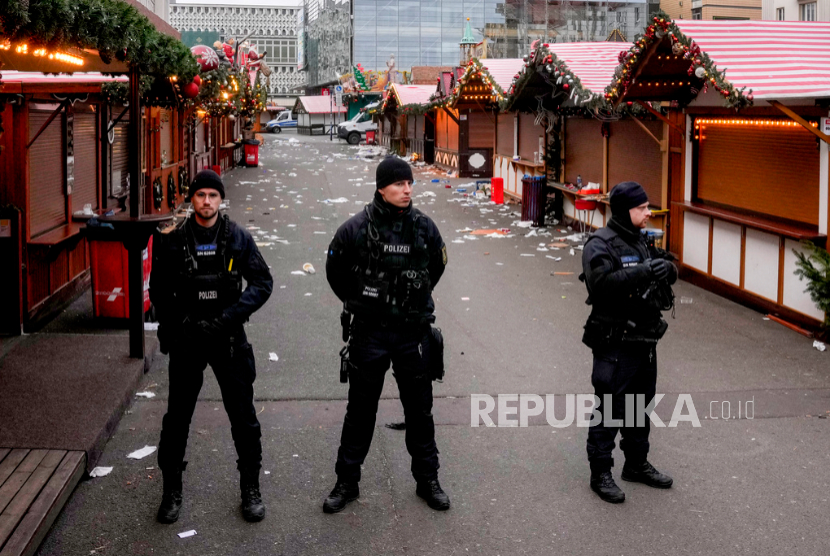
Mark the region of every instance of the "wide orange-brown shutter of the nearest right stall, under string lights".
<instances>
[{"instance_id":1,"label":"wide orange-brown shutter of the nearest right stall, under string lights","mask_svg":"<svg viewBox=\"0 0 830 556\"><path fill-rule=\"evenodd\" d=\"M819 160L801 126L705 124L696 199L817 226Z\"/></svg>"}]
</instances>

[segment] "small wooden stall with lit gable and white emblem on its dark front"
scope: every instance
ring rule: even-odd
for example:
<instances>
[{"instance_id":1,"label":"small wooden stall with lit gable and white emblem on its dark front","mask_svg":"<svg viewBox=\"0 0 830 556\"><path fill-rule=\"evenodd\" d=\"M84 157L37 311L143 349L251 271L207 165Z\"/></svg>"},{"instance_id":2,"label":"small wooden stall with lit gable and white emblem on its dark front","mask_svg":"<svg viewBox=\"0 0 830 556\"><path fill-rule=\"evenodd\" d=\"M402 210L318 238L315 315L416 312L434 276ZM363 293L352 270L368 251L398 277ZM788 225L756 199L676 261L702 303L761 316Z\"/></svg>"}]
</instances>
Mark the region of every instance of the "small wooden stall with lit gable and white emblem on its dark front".
<instances>
[{"instance_id":1,"label":"small wooden stall with lit gable and white emblem on its dark front","mask_svg":"<svg viewBox=\"0 0 830 556\"><path fill-rule=\"evenodd\" d=\"M462 45L463 46L463 45ZM435 164L461 177L493 175L496 119L520 59L469 59L456 68L451 87L439 81L435 101ZM445 74L446 76L446 74Z\"/></svg>"}]
</instances>

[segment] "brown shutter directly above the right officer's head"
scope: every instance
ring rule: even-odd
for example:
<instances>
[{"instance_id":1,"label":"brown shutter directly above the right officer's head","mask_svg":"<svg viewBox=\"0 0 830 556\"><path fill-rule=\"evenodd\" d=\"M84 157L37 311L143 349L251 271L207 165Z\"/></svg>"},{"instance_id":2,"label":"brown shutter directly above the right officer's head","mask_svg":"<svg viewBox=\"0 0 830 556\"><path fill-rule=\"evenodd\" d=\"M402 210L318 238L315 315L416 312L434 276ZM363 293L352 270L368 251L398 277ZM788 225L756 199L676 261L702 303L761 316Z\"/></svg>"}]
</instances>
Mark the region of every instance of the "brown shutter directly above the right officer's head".
<instances>
[{"instance_id":1,"label":"brown shutter directly above the right officer's head","mask_svg":"<svg viewBox=\"0 0 830 556\"><path fill-rule=\"evenodd\" d=\"M642 124L655 137L663 136L663 122L646 120ZM636 181L643 186L649 202L661 206L663 197L663 153L657 141L634 120L609 123L608 188L620 182ZM597 138L596 140L602 141ZM583 179L585 176L582 176Z\"/></svg>"}]
</instances>

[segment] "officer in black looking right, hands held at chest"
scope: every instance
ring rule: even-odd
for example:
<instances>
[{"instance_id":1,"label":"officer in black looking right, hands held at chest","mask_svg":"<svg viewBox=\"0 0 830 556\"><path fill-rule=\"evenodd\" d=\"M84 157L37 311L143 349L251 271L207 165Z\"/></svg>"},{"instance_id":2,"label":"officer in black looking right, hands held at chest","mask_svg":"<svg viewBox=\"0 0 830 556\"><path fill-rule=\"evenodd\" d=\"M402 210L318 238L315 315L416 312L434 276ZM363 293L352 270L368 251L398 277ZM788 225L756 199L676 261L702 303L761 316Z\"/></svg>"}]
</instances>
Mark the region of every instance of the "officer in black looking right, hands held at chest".
<instances>
[{"instance_id":1,"label":"officer in black looking right, hands held at chest","mask_svg":"<svg viewBox=\"0 0 830 556\"><path fill-rule=\"evenodd\" d=\"M611 475L611 452L617 431L625 454L624 481L669 488L671 477L657 471L646 459L649 419L643 426L622 429L604 424L624 419L625 395L644 395L643 407L654 398L657 384L657 341L667 324L661 311L673 306L671 284L677 280L673 257L649 244L642 233L651 212L648 196L636 182L617 184L610 195L611 219L592 234L582 253L591 316L582 341L593 350L591 382L600 399L603 424L588 431L591 489L606 502L625 501L625 493ZM611 399L612 415L605 415L604 396ZM634 425L636 425L636 421Z\"/></svg>"}]
</instances>

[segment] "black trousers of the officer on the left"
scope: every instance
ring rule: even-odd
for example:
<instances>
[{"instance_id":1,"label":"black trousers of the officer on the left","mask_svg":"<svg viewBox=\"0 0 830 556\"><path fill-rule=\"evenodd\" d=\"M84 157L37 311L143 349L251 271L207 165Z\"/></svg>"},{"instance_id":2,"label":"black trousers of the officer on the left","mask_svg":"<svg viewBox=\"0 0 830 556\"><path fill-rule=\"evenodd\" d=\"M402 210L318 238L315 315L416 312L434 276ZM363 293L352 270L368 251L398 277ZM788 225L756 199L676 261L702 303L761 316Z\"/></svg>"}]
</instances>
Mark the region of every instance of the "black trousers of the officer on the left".
<instances>
[{"instance_id":1,"label":"black trousers of the officer on the left","mask_svg":"<svg viewBox=\"0 0 830 556\"><path fill-rule=\"evenodd\" d=\"M175 472L182 465L190 421L207 365L216 375L222 403L231 422L237 468L258 471L262 463L262 435L254 409L256 367L253 350L244 332L233 343L205 340L171 347L170 394L161 425L159 468L164 472Z\"/></svg>"}]
</instances>

